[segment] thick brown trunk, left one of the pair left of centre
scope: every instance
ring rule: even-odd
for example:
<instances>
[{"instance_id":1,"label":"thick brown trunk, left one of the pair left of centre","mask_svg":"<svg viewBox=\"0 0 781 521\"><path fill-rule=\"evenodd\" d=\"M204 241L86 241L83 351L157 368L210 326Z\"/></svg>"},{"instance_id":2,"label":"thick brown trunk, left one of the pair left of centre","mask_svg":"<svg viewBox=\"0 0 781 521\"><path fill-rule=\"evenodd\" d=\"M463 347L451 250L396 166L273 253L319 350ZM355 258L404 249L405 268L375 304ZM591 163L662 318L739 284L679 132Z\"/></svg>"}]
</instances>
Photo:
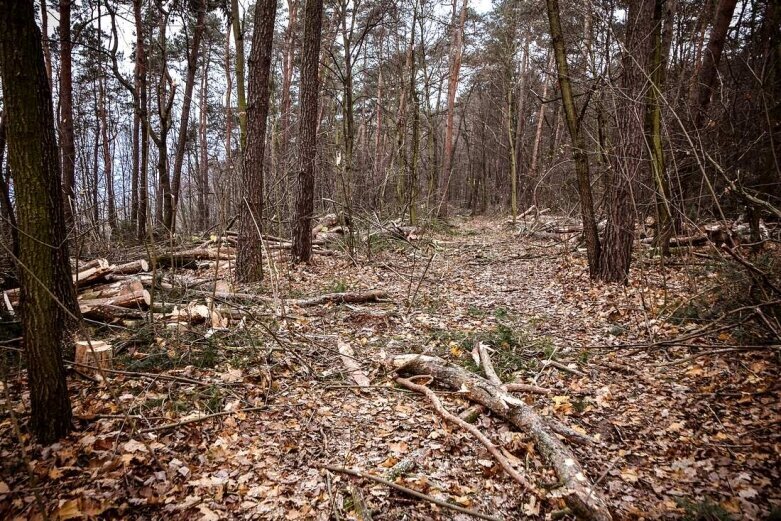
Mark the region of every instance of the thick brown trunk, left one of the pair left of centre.
<instances>
[{"instance_id":1,"label":"thick brown trunk, left one of the pair left of centre","mask_svg":"<svg viewBox=\"0 0 781 521\"><path fill-rule=\"evenodd\" d=\"M255 32L249 61L249 105L247 106L247 148L241 169L244 201L241 204L236 277L243 282L263 278L263 159L266 147L266 119L269 112L271 48L274 40L276 0L255 4Z\"/></svg>"}]
</instances>

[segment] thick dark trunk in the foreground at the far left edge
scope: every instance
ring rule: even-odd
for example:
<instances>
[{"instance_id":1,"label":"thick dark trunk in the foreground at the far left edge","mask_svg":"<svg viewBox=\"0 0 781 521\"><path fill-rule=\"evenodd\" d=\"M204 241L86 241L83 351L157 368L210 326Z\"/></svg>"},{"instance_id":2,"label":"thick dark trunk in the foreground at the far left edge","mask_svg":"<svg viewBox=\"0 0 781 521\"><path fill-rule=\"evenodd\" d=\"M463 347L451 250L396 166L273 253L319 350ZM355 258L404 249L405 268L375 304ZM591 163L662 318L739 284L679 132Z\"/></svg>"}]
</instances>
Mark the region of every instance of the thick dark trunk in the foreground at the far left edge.
<instances>
[{"instance_id":1,"label":"thick dark trunk in the foreground at the far left edge","mask_svg":"<svg viewBox=\"0 0 781 521\"><path fill-rule=\"evenodd\" d=\"M21 232L20 310L30 379L30 427L47 443L71 427L61 353L68 341L67 312L78 317L78 307L65 240L51 90L32 0L0 0L0 34L8 159Z\"/></svg>"}]
</instances>

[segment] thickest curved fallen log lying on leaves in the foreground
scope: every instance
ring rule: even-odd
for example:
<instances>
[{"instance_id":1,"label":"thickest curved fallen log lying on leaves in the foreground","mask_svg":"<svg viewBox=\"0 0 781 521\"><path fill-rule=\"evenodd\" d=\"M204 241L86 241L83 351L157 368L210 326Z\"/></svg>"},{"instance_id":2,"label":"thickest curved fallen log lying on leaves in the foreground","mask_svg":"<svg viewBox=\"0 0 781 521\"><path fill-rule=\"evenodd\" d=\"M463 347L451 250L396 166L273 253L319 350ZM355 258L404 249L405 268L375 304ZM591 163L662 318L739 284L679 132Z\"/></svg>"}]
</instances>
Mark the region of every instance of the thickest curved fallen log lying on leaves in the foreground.
<instances>
[{"instance_id":1,"label":"thickest curved fallen log lying on leaves in the foreground","mask_svg":"<svg viewBox=\"0 0 781 521\"><path fill-rule=\"evenodd\" d=\"M443 385L464 393L497 416L529 433L562 483L562 497L570 510L582 519L612 519L602 494L586 477L572 451L556 436L550 425L525 402L513 398L501 388L441 358L425 355L400 355L392 359L404 374L431 375Z\"/></svg>"}]
</instances>

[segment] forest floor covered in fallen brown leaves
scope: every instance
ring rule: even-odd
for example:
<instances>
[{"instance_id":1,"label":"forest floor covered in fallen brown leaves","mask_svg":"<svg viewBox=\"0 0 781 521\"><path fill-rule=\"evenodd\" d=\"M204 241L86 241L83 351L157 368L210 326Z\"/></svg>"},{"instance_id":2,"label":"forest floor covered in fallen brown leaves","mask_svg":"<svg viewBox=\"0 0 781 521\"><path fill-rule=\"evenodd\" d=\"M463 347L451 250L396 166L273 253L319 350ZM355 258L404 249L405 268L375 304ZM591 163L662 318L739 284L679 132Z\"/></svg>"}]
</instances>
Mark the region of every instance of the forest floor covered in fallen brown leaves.
<instances>
[{"instance_id":1,"label":"forest floor covered in fallen brown leaves","mask_svg":"<svg viewBox=\"0 0 781 521\"><path fill-rule=\"evenodd\" d=\"M739 331L718 328L694 347L658 343L702 326L669 319L708 284L723 284L702 258L665 268L638 261L624 287L590 282L582 253L520 238L496 220L458 220L419 242L378 246L358 266L344 255L280 262L256 288L268 293L275 280L288 297L384 289L386 302L284 318L256 308L244 327L208 334L114 333L115 347L128 346L114 367L128 373L104 382L71 373L76 430L55 445L26 433L17 362L0 397L0 517L42 519L44 505L59 519L369 519L363 505L374 520L469 519L322 469L383 476L413 454L416 466L397 483L503 519L551 519L560 500L525 493L470 434L396 386L383 363L425 352L475 370L475 340L493 347L504 380L553 391L524 397L540 414L597 440L572 448L614 519L779 515L777 346L744 350ZM346 374L339 343L352 347L371 387ZM438 394L452 412L470 405ZM220 411L234 412L202 418ZM187 419L197 421L166 427ZM532 481L554 480L525 433L490 415L476 425Z\"/></svg>"}]
</instances>

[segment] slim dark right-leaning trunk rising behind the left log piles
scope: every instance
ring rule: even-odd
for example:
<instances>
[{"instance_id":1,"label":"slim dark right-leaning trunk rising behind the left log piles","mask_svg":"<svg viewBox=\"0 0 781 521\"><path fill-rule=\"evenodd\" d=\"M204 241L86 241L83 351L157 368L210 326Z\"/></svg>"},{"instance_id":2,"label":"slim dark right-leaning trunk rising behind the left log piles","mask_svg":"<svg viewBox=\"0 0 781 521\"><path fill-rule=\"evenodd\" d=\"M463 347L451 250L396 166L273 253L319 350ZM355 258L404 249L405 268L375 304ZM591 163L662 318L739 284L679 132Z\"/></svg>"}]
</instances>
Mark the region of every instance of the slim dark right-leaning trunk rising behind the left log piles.
<instances>
[{"instance_id":1,"label":"slim dark right-leaning trunk rising behind the left log piles","mask_svg":"<svg viewBox=\"0 0 781 521\"><path fill-rule=\"evenodd\" d=\"M171 179L171 203L166 205L163 222L171 233L176 230L176 207L179 203L179 187L182 183L182 166L184 153L187 147L188 127L190 123L190 106L192 105L193 89L195 87L195 72L198 70L198 55L201 50L201 40L205 28L206 0L198 0L195 13L195 27L193 39L187 53L187 77L184 83L184 97L182 109L179 113L179 137L176 142L176 155L174 156L174 170ZM172 94L173 96L173 94Z\"/></svg>"}]
</instances>

